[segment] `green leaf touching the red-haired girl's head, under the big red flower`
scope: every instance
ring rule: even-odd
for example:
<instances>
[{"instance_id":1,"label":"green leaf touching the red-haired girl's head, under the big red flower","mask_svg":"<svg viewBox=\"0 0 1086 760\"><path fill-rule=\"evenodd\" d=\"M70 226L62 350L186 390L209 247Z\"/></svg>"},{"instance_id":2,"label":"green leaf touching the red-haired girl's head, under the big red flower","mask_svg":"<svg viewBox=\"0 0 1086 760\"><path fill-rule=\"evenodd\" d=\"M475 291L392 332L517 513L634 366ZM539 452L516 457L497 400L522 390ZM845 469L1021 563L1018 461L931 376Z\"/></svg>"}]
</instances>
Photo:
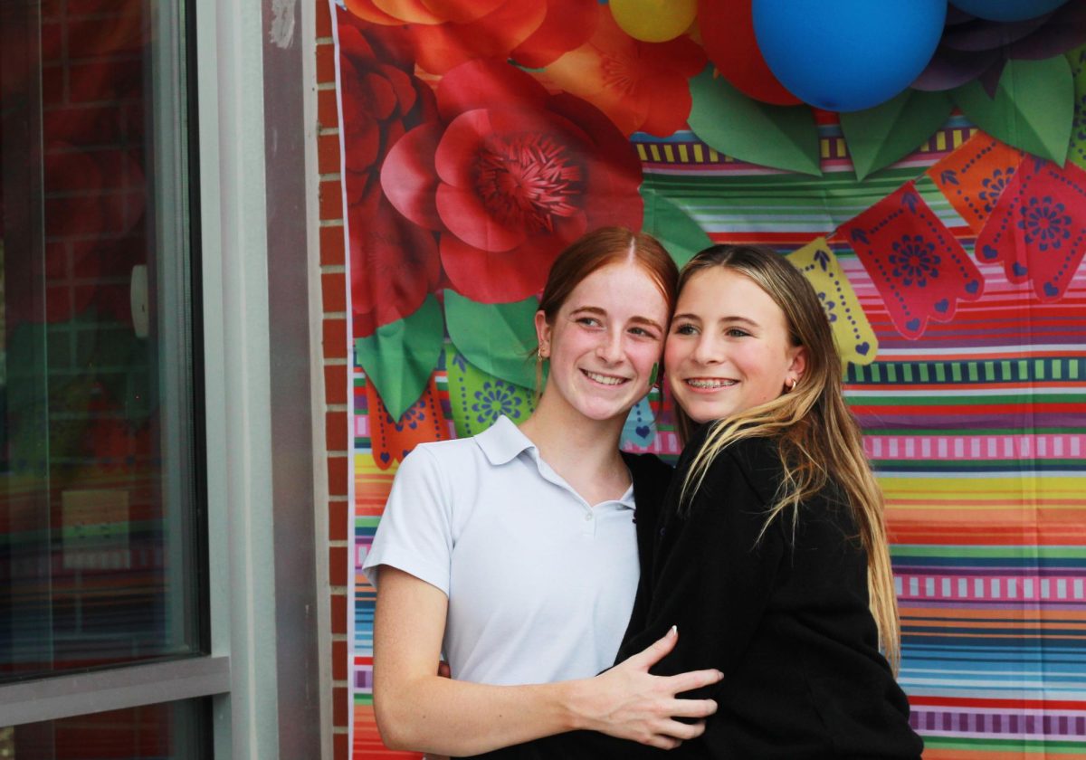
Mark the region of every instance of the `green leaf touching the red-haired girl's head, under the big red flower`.
<instances>
[{"instance_id":1,"label":"green leaf touching the red-haired girl's head, under the big red flower","mask_svg":"<svg viewBox=\"0 0 1086 760\"><path fill-rule=\"evenodd\" d=\"M445 324L456 349L482 371L525 388L535 385L535 365L528 354L535 346L538 311L534 297L480 304L445 291Z\"/></svg>"}]
</instances>

